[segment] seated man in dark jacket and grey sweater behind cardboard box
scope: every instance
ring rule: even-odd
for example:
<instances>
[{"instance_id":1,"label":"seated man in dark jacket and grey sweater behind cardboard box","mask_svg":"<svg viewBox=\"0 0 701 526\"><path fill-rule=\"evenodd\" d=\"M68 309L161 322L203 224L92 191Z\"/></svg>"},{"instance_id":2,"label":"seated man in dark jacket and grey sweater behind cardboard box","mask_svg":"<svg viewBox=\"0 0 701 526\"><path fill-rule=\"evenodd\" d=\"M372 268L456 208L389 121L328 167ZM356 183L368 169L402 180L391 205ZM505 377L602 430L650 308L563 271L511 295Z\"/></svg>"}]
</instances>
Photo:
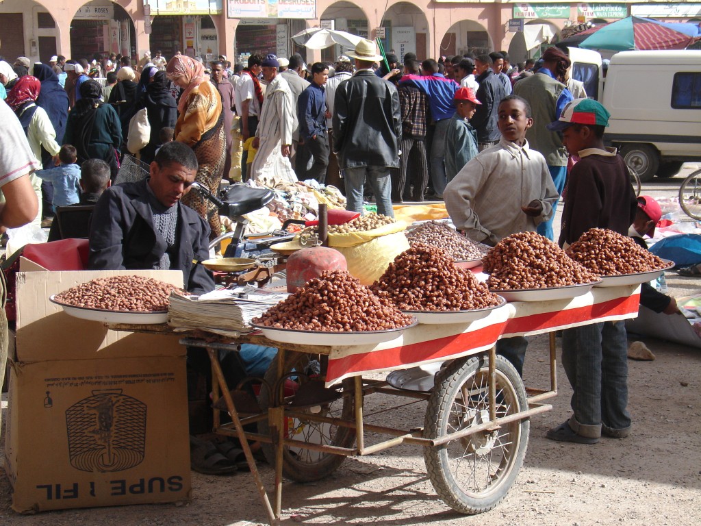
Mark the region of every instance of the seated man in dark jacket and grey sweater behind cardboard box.
<instances>
[{"instance_id":1,"label":"seated man in dark jacket and grey sweater behind cardboard box","mask_svg":"<svg viewBox=\"0 0 701 526\"><path fill-rule=\"evenodd\" d=\"M105 190L93 213L88 269L179 269L193 294L213 290L212 274L198 263L209 257L210 228L179 202L197 167L190 147L168 142L147 179Z\"/></svg>"}]
</instances>

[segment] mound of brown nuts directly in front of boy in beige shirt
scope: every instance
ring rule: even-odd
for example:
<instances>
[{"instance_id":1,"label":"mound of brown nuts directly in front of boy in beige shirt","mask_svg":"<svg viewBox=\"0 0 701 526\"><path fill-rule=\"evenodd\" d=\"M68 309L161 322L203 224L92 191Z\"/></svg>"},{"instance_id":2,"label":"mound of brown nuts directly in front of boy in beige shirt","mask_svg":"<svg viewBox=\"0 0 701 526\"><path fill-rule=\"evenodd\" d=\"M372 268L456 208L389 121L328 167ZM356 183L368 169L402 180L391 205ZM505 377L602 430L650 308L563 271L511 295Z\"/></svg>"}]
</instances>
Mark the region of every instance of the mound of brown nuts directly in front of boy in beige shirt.
<instances>
[{"instance_id":1,"label":"mound of brown nuts directly in front of boy in beige shirt","mask_svg":"<svg viewBox=\"0 0 701 526\"><path fill-rule=\"evenodd\" d=\"M482 259L491 290L524 290L592 283L599 278L536 232L503 238Z\"/></svg>"}]
</instances>

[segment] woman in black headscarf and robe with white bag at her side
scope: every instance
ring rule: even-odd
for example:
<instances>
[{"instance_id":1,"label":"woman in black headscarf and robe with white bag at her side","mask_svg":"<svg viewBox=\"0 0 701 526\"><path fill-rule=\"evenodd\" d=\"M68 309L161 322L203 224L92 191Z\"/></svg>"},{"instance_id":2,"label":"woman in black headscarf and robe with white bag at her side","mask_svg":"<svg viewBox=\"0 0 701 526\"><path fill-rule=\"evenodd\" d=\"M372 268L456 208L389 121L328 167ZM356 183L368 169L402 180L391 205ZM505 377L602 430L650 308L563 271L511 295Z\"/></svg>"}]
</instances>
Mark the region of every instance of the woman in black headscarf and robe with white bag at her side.
<instances>
[{"instance_id":1,"label":"woman in black headscarf and robe with white bag at her side","mask_svg":"<svg viewBox=\"0 0 701 526\"><path fill-rule=\"evenodd\" d=\"M156 68L153 68L156 69ZM146 72L144 72L146 73ZM147 74L142 75L148 76ZM177 121L177 102L170 91L168 91L168 76L165 72L159 72L151 77L151 83L146 88L146 92L139 98L136 111L146 108L151 126L151 138L149 144L142 148L141 160L144 163L151 163L156 156L156 149L162 146L161 130L163 128L175 128Z\"/></svg>"}]
</instances>

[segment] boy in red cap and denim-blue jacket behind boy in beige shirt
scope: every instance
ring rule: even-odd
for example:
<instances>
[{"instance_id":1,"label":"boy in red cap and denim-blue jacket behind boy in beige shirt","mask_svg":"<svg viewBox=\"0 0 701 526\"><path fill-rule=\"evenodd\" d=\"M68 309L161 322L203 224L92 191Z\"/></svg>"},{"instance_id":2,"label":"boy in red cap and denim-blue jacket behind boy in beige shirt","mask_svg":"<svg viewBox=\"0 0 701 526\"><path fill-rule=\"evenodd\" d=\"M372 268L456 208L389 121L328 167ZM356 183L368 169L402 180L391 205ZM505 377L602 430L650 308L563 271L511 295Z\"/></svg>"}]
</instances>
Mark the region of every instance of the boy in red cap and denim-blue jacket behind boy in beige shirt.
<instances>
[{"instance_id":1,"label":"boy in red cap and denim-blue jacket behind boy in beige shirt","mask_svg":"<svg viewBox=\"0 0 701 526\"><path fill-rule=\"evenodd\" d=\"M451 117L445 133L445 177L451 182L472 157L476 156L477 130L469 123L482 104L470 88L459 88L453 96L455 115Z\"/></svg>"}]
</instances>

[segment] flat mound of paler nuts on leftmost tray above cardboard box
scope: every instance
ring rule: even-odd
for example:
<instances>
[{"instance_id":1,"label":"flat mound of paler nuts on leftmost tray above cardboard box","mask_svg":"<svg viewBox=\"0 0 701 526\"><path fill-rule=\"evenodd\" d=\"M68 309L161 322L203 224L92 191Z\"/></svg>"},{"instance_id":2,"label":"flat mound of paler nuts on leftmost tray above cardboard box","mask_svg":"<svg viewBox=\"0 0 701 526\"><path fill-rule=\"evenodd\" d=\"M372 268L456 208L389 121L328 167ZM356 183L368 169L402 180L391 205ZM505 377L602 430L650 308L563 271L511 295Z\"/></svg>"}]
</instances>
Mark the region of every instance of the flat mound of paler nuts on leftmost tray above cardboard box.
<instances>
[{"instance_id":1,"label":"flat mound of paler nuts on leftmost tray above cardboard box","mask_svg":"<svg viewBox=\"0 0 701 526\"><path fill-rule=\"evenodd\" d=\"M167 311L170 292L183 292L170 283L142 276L112 276L81 283L55 296L57 302L86 309L120 312Z\"/></svg>"}]
</instances>

